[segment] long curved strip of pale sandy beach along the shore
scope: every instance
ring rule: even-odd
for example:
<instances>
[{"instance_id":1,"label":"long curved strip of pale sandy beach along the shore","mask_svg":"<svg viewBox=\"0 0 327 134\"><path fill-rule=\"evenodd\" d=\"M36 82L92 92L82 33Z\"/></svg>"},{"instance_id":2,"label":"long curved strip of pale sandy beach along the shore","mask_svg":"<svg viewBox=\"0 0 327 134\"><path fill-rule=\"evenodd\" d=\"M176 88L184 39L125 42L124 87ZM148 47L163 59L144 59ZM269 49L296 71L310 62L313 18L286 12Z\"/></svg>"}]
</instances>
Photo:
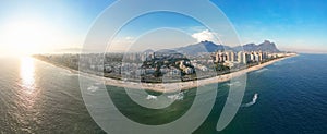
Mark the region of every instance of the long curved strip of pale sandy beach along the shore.
<instances>
[{"instance_id":1,"label":"long curved strip of pale sandy beach along the shore","mask_svg":"<svg viewBox=\"0 0 327 134\"><path fill-rule=\"evenodd\" d=\"M247 69L243 69L243 70L240 70L240 71L223 74L223 75L218 75L218 76L215 76L215 77L197 80L197 81L180 82L180 83L124 82L124 81L120 81L120 80L113 80L113 78L109 78L109 77L98 76L98 75L95 75L95 74L84 73L84 72L81 72L81 71L76 71L76 70L60 65L60 64L49 63L47 61L43 61L43 60L39 60L39 59L36 59L36 58L34 58L34 59L43 61L45 63L52 64L57 68L68 70L71 73L82 74L84 76L101 81L105 85L124 87L124 88L129 88L129 89L147 89L147 90L158 92L158 93L173 93L173 92L178 92L178 90L187 90L187 89L191 89L191 88L195 88L195 87L204 86L204 85L208 85L208 84L227 82L227 81L230 81L233 77L238 77L238 76L241 76L243 74L246 74L246 73L250 73L250 72L253 72L253 71L257 71L257 70L263 69L265 66L268 66L268 65L270 65L275 62L282 61L284 59L296 57L296 56L298 54L291 54L291 56L288 56L288 57L284 57L284 58L275 59L275 60L271 60L271 61L258 64L258 65L254 65L254 66L251 66L251 68L247 68Z\"/></svg>"}]
</instances>

